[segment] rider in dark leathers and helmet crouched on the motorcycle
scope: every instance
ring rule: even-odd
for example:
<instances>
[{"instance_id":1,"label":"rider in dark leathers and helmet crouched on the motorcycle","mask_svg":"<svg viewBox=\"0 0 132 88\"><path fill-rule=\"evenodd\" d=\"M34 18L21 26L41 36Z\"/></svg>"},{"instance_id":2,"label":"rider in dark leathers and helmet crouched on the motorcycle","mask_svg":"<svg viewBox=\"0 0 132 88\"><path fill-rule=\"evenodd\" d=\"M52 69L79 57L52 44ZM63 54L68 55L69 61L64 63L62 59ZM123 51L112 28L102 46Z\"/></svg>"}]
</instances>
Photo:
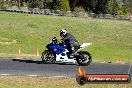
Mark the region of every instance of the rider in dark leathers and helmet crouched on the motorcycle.
<instances>
[{"instance_id":1,"label":"rider in dark leathers and helmet crouched on the motorcycle","mask_svg":"<svg viewBox=\"0 0 132 88\"><path fill-rule=\"evenodd\" d=\"M75 51L79 48L79 43L75 39L75 37L68 33L66 29L60 30L60 36L62 37L62 41L66 42L68 44L68 50L71 55L75 54Z\"/></svg>"}]
</instances>

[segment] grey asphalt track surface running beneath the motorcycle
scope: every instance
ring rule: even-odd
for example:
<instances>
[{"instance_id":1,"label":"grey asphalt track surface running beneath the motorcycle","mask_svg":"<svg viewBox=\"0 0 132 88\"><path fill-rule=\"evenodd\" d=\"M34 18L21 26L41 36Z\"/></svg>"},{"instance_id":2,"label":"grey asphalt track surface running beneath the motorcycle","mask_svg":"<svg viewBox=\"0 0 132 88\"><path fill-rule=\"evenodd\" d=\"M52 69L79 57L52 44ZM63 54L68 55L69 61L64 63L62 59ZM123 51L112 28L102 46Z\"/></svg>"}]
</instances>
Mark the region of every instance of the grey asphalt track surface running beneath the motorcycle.
<instances>
[{"instance_id":1,"label":"grey asphalt track surface running beneath the motorcycle","mask_svg":"<svg viewBox=\"0 0 132 88\"><path fill-rule=\"evenodd\" d=\"M83 66L87 74L130 74L132 64L91 63ZM76 76L75 64L43 64L39 60L0 59L0 75L15 76Z\"/></svg>"}]
</instances>

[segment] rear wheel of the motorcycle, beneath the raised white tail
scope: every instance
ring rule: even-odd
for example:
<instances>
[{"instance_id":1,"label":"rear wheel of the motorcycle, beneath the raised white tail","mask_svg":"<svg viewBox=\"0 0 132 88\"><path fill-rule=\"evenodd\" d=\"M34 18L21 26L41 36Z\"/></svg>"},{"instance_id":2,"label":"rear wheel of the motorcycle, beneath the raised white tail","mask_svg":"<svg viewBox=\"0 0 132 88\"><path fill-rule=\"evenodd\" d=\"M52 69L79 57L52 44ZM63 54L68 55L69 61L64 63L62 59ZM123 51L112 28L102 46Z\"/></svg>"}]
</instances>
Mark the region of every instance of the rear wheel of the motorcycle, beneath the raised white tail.
<instances>
[{"instance_id":1,"label":"rear wheel of the motorcycle, beneath the raised white tail","mask_svg":"<svg viewBox=\"0 0 132 88\"><path fill-rule=\"evenodd\" d=\"M87 66L92 62L92 56L87 51L80 51L76 57L76 61L80 66Z\"/></svg>"}]
</instances>

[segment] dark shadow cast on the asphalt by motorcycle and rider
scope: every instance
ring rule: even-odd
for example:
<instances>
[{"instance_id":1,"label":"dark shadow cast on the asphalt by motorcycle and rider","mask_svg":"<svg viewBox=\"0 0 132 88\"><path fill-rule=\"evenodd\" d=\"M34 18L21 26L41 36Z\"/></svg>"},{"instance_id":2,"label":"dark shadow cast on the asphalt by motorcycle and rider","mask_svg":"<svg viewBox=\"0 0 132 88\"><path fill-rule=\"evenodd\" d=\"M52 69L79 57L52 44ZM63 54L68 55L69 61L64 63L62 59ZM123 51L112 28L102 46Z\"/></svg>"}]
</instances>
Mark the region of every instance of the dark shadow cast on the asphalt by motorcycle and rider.
<instances>
[{"instance_id":1,"label":"dark shadow cast on the asphalt by motorcycle and rider","mask_svg":"<svg viewBox=\"0 0 132 88\"><path fill-rule=\"evenodd\" d=\"M42 61L26 60L26 59L12 59L12 61L23 62L23 63L45 64ZM54 64L57 64L57 65L76 65L73 63L54 63Z\"/></svg>"}]
</instances>

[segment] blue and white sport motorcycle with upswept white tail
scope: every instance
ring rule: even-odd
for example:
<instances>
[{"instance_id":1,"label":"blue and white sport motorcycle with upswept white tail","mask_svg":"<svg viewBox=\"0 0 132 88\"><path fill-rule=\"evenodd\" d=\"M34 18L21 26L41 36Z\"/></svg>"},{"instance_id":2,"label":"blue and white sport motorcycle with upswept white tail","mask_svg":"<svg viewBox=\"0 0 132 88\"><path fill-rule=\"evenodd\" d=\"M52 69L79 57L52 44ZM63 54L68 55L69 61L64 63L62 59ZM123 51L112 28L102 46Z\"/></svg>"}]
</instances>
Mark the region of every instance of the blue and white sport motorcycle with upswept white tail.
<instances>
[{"instance_id":1,"label":"blue and white sport motorcycle with upswept white tail","mask_svg":"<svg viewBox=\"0 0 132 88\"><path fill-rule=\"evenodd\" d=\"M46 64L53 64L56 62L61 63L76 63L79 66L87 66L92 62L92 56L87 51L80 51L92 43L83 43L80 45L75 54L70 57L70 52L67 49L66 42L61 42L59 44L52 44L51 42L47 44L45 50L42 53L42 62Z\"/></svg>"}]
</instances>

